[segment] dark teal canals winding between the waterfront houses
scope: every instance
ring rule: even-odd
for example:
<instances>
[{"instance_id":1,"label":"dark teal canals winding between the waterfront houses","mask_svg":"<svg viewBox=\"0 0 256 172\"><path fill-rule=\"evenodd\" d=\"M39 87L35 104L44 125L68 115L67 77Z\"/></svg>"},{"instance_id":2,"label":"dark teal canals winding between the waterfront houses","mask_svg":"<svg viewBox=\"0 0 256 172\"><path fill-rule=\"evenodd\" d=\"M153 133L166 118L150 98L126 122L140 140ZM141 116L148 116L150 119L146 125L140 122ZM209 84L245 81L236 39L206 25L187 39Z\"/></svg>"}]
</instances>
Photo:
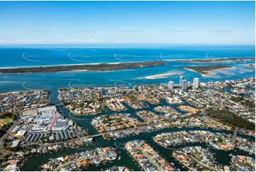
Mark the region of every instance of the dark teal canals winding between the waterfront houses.
<instances>
[{"instance_id":1,"label":"dark teal canals winding between the waterfront houses","mask_svg":"<svg viewBox=\"0 0 256 172\"><path fill-rule=\"evenodd\" d=\"M57 98L52 95L52 102L55 102L56 104L59 103L59 101L57 100ZM162 105L167 105L167 102L165 102L165 100L162 100ZM151 110L154 109L154 107L156 107L157 105L150 105L150 107L146 108L147 110ZM177 105L171 105L172 107L174 107L174 109L176 109L177 111L181 112L178 108ZM128 107L126 105L126 107L128 108L126 110L127 113L133 114L133 117L138 117L135 115L135 109L132 109L130 107ZM72 113L69 113L69 111L67 109L65 109L64 107L58 107L58 109L65 115L65 117L71 118L76 120L80 125L82 125L82 127L88 129L88 131L91 134L96 134L96 129L94 129L94 127L91 126L91 119L94 117L98 117L99 115L102 114L97 114L97 115L91 115L91 116L76 116ZM106 112L104 112L103 114L113 114L114 112L111 111L111 109L106 109ZM156 112L157 113L157 112ZM183 112L182 112L183 113ZM159 114L159 113L157 113ZM57 151L57 152L53 152L52 154L48 153L48 154L43 154L40 156L33 156L28 158L28 161L26 161L26 163L24 164L23 168L21 168L22 171L35 171L38 169L38 167L40 165L42 165L43 163L46 163L49 161L49 158L57 158L59 156L65 156L67 154L74 154L76 152L81 152L81 151L85 151L87 149L94 149L96 147L104 147L104 146L113 146L116 147L118 149L118 151L120 151L121 154L121 160L118 161L113 161L113 163L107 163L106 165L101 165L101 166L94 166L92 168L87 169L87 171L100 171L101 169L106 169L106 168L110 168L111 166L128 166L129 168L132 168L134 171L140 171L140 167L138 166L137 163L135 163L135 161L133 161L133 158L131 158L129 156L129 154L127 153L126 149L124 149L124 144L126 144L127 141L133 140L133 139L144 139L145 141L147 141L150 145L152 145L157 151L159 151L159 153L165 157L167 159L167 161L174 163L174 165L177 168L180 168L182 171L186 171L186 168L183 168L181 164L179 164L173 157L172 157L172 151L170 149L165 149L162 146L158 146L157 144L155 144L155 142L153 141L152 137L160 134L162 132L167 132L167 131L180 131L180 130L196 130L200 128L183 128L183 129L178 129L178 128L172 128L172 129L162 129L160 131L153 131L150 132L148 134L140 134L138 136L130 136L127 138L123 138L123 139L117 139L116 141L111 140L111 141L107 141L105 139L103 139L102 137L97 137L95 138L95 141L92 145L89 146L80 146L79 148L74 148L74 149L66 149L64 151ZM213 131L213 132L220 132L218 130L214 130L214 129L203 129L203 130L207 130L207 131ZM221 131L227 134L232 134L232 131ZM240 135L239 136L251 139L252 141L255 140L255 138L252 138L250 136L244 136L244 135ZM200 143L196 143L196 144L185 144L183 146L203 146L203 147L207 147L206 144L200 144ZM182 146L175 146L174 148L180 148ZM229 154L233 154L233 155L245 155L245 156L252 156L250 154L247 154L244 151L239 151L239 150L232 150L232 151L220 151L220 150L216 150L216 149L211 149L211 151L213 151L216 154L216 161L218 161L218 163L222 163L224 165L228 165L230 163L230 156Z\"/></svg>"}]
</instances>

